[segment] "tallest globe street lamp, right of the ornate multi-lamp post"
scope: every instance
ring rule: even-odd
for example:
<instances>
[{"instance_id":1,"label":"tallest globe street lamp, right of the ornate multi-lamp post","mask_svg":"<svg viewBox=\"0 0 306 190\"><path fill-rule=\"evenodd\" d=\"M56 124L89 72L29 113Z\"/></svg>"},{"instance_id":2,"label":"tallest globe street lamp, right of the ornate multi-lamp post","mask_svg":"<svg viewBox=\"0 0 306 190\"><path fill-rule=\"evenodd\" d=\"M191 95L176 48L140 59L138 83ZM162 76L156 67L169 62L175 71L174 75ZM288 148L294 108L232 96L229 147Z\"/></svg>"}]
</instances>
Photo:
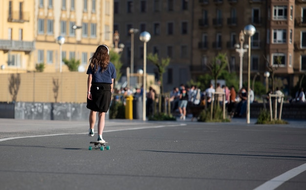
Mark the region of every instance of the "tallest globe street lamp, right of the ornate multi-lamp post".
<instances>
[{"instance_id":1,"label":"tallest globe street lamp, right of the ornate multi-lamp post","mask_svg":"<svg viewBox=\"0 0 306 190\"><path fill-rule=\"evenodd\" d=\"M249 55L248 55L248 71L247 71L247 105L246 105L246 123L250 123L250 78L251 78L251 37L255 34L256 28L249 24L243 29L245 35L249 36Z\"/></svg>"}]
</instances>

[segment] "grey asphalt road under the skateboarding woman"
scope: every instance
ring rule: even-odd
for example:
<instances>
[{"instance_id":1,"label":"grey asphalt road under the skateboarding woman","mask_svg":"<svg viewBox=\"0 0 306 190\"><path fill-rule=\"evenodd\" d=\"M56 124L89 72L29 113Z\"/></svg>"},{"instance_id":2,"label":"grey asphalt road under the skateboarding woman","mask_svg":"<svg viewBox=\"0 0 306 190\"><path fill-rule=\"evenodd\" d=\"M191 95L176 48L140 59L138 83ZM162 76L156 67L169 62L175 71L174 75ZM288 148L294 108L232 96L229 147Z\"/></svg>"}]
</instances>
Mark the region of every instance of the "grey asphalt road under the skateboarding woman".
<instances>
[{"instance_id":1,"label":"grey asphalt road under the skateboarding woman","mask_svg":"<svg viewBox=\"0 0 306 190\"><path fill-rule=\"evenodd\" d=\"M0 119L1 190L304 190L306 122L110 120L110 150L87 122Z\"/></svg>"}]
</instances>

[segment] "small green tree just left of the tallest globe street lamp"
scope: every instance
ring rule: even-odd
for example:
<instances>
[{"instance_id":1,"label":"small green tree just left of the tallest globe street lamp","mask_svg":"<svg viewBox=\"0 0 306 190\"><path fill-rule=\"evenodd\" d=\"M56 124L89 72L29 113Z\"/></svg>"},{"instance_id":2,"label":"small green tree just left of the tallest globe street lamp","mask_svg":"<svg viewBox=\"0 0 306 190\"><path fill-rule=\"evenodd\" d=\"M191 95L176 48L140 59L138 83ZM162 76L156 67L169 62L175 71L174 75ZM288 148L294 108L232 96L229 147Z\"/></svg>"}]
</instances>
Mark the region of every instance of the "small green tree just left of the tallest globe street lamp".
<instances>
[{"instance_id":1,"label":"small green tree just left of the tallest globe street lamp","mask_svg":"<svg viewBox=\"0 0 306 190\"><path fill-rule=\"evenodd\" d=\"M226 53L219 53L216 57L214 57L211 63L207 64L207 67L211 71L212 77L215 80L215 87L217 86L219 76L228 64L227 62Z\"/></svg>"}]
</instances>

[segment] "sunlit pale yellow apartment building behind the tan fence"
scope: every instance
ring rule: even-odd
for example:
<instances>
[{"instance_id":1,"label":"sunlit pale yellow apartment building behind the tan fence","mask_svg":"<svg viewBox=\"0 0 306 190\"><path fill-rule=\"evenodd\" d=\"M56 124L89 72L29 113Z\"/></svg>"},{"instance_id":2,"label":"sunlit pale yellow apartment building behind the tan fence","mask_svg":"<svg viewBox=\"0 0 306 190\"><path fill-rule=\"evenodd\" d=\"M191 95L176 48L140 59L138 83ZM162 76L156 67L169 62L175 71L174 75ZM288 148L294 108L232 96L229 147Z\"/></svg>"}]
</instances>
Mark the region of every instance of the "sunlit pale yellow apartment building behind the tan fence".
<instances>
[{"instance_id":1,"label":"sunlit pale yellow apartment building behind the tan fence","mask_svg":"<svg viewBox=\"0 0 306 190\"><path fill-rule=\"evenodd\" d=\"M2 0L1 9L2 72L31 72L38 63L59 72L60 58L80 60L84 71L99 44L113 44L113 0Z\"/></svg>"}]
</instances>

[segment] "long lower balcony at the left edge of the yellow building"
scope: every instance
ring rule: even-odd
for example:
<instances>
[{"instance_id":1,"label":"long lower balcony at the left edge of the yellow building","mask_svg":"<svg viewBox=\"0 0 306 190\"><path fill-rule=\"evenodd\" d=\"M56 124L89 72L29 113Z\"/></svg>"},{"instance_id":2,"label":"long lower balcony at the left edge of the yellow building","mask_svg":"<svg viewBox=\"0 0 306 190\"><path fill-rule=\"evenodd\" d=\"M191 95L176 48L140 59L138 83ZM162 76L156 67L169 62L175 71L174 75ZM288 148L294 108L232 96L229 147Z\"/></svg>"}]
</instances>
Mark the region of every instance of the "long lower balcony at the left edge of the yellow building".
<instances>
[{"instance_id":1,"label":"long lower balcony at the left edge of the yellow building","mask_svg":"<svg viewBox=\"0 0 306 190\"><path fill-rule=\"evenodd\" d=\"M0 49L8 51L25 51L30 52L35 50L35 42L29 41L14 41L0 40Z\"/></svg>"}]
</instances>

